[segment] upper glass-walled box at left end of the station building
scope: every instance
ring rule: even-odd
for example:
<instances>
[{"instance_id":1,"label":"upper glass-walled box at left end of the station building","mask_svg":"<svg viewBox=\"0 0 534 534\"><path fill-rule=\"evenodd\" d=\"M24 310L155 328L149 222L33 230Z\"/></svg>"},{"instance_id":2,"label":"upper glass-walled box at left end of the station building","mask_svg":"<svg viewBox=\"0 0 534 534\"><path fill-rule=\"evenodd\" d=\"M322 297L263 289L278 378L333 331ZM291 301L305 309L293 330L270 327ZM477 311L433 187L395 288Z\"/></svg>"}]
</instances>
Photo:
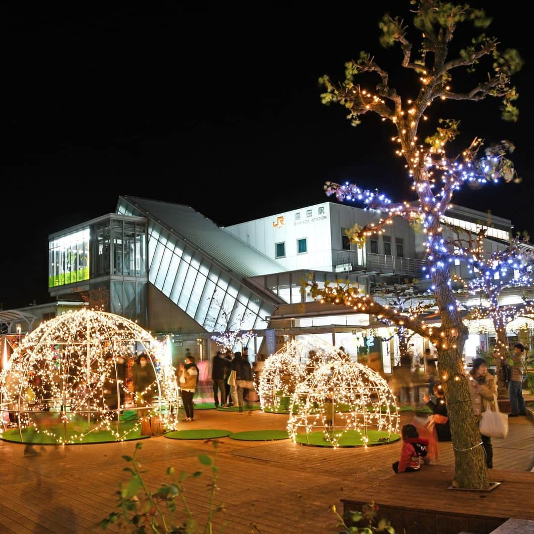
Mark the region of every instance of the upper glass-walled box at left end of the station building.
<instances>
[{"instance_id":1,"label":"upper glass-walled box at left end of the station building","mask_svg":"<svg viewBox=\"0 0 534 534\"><path fill-rule=\"evenodd\" d=\"M146 277L146 222L107 217L49 240L48 287L111 274Z\"/></svg>"}]
</instances>

